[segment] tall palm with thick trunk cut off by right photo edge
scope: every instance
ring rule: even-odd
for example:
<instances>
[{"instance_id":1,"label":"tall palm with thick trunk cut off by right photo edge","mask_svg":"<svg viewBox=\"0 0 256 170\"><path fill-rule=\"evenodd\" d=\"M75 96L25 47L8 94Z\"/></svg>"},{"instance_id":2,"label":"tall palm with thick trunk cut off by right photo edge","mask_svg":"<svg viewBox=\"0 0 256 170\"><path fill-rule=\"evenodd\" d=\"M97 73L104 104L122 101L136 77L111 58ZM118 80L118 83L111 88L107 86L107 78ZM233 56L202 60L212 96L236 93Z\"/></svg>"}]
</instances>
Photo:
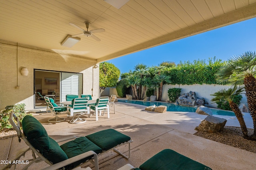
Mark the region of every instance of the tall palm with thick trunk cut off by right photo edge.
<instances>
[{"instance_id":1,"label":"tall palm with thick trunk cut off by right photo edge","mask_svg":"<svg viewBox=\"0 0 256 170\"><path fill-rule=\"evenodd\" d=\"M216 73L220 82L244 84L246 98L254 125L254 134L250 137L256 140L256 53L246 52L233 56L228 64Z\"/></svg>"}]
</instances>

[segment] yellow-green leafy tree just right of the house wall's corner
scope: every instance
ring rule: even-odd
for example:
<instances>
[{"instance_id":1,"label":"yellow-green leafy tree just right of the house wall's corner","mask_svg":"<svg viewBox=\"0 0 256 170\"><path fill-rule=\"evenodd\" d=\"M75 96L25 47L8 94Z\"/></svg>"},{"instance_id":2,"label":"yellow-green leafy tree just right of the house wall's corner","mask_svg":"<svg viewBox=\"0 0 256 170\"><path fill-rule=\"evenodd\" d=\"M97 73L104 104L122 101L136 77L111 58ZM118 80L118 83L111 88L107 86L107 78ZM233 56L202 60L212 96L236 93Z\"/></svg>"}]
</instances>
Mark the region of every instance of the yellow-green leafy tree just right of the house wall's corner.
<instances>
[{"instance_id":1,"label":"yellow-green leafy tree just right of the house wall's corner","mask_svg":"<svg viewBox=\"0 0 256 170\"><path fill-rule=\"evenodd\" d=\"M106 87L115 87L120 70L112 63L100 63L100 96Z\"/></svg>"}]
</instances>

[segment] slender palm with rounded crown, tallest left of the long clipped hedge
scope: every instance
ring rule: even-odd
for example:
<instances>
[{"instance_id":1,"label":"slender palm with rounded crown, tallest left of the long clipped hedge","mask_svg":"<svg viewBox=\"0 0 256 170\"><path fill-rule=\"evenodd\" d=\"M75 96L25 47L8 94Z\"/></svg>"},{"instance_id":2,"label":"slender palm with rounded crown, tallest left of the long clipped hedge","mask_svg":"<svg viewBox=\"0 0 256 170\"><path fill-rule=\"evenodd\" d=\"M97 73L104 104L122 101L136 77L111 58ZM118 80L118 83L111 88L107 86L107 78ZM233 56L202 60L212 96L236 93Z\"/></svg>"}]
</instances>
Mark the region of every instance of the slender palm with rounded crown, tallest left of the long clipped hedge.
<instances>
[{"instance_id":1,"label":"slender palm with rounded crown, tallest left of the long clipped hedge","mask_svg":"<svg viewBox=\"0 0 256 170\"><path fill-rule=\"evenodd\" d=\"M139 82L139 100L141 100L142 96L142 80L148 75L148 67L146 64L137 64L134 67L135 71L134 73L137 74L140 77L140 82Z\"/></svg>"}]
</instances>

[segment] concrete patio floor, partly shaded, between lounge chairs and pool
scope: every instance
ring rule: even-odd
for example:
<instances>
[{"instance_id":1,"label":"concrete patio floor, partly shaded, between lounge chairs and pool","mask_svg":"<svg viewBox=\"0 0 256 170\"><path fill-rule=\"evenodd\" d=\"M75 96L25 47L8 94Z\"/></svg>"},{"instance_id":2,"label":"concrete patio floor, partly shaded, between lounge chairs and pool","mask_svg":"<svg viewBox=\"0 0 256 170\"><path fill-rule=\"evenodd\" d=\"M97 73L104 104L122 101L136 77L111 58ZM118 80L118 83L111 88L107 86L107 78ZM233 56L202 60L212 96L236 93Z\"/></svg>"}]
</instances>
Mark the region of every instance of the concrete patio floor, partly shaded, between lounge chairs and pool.
<instances>
[{"instance_id":1,"label":"concrete patio floor, partly shaded, between lounge chairs and pool","mask_svg":"<svg viewBox=\"0 0 256 170\"><path fill-rule=\"evenodd\" d=\"M163 149L175 150L213 170L256 169L256 154L193 135L196 133L194 128L206 115L172 111L156 113L144 110L145 107L116 102L116 114L114 114L113 107L110 107L110 119L107 119L106 114L99 116L99 121L95 121L95 116L91 116L86 118L87 121L82 124L68 123L70 118L66 117L66 114L60 115L60 117L66 117L66 121L60 123L48 123L47 120L53 117L50 113L34 113L33 115L42 123L48 135L53 139L70 135L81 137L109 128L130 136L133 139L131 157L127 160L114 151L99 155L100 170L116 170L127 163L138 167ZM227 126L239 127L235 117L218 117L226 118ZM246 113L244 118L248 128L253 128L250 115ZM18 142L18 137L1 140L0 143L1 160L12 160L17 150L26 147L24 141ZM123 145L118 149L126 151L128 145ZM28 158L31 158L30 152L22 159L27 160ZM0 164L0 168L3 166ZM22 166L24 165L18 164L16 169L21 169ZM48 164L39 162L34 163L29 169L42 169L46 166ZM94 169L90 163L86 166Z\"/></svg>"}]
</instances>

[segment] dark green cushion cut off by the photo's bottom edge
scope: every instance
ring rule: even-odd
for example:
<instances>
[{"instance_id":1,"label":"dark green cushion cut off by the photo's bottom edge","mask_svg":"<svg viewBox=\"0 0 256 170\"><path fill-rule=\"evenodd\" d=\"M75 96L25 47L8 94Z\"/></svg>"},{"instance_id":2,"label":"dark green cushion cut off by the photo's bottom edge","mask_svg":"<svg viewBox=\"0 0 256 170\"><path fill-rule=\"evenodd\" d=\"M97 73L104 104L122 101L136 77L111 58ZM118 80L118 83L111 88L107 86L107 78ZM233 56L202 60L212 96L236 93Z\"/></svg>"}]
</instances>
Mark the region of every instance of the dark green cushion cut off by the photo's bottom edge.
<instances>
[{"instance_id":1,"label":"dark green cushion cut off by the photo's bottom edge","mask_svg":"<svg viewBox=\"0 0 256 170\"><path fill-rule=\"evenodd\" d=\"M165 149L144 162L140 170L211 170L174 150Z\"/></svg>"}]
</instances>

